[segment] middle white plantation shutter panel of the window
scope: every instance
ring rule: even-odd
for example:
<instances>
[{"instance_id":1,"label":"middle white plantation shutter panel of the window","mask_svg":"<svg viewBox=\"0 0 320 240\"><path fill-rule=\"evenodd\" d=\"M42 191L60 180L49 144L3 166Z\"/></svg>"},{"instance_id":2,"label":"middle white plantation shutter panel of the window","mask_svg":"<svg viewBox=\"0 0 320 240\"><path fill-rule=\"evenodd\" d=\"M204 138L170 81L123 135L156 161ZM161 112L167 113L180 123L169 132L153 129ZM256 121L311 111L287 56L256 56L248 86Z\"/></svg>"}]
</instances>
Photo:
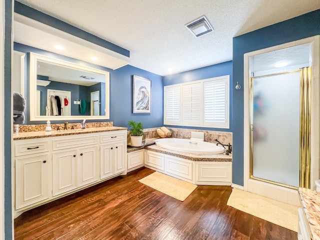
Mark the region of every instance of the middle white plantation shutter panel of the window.
<instances>
[{"instance_id":1,"label":"middle white plantation shutter panel of the window","mask_svg":"<svg viewBox=\"0 0 320 240\"><path fill-rule=\"evenodd\" d=\"M182 85L182 123L201 123L201 82Z\"/></svg>"}]
</instances>

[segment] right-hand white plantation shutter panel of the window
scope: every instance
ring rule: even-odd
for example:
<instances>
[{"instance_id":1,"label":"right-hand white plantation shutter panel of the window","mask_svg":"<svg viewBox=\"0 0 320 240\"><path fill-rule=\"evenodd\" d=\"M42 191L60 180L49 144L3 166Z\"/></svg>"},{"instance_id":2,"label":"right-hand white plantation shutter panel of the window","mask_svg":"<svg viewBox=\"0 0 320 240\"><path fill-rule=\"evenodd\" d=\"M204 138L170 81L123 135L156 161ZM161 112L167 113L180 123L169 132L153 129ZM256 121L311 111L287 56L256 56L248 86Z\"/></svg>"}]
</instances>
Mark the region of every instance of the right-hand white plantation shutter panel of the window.
<instances>
[{"instance_id":1,"label":"right-hand white plantation shutter panel of the window","mask_svg":"<svg viewBox=\"0 0 320 240\"><path fill-rule=\"evenodd\" d=\"M225 78L203 82L203 124L227 124L227 92Z\"/></svg>"}]
</instances>

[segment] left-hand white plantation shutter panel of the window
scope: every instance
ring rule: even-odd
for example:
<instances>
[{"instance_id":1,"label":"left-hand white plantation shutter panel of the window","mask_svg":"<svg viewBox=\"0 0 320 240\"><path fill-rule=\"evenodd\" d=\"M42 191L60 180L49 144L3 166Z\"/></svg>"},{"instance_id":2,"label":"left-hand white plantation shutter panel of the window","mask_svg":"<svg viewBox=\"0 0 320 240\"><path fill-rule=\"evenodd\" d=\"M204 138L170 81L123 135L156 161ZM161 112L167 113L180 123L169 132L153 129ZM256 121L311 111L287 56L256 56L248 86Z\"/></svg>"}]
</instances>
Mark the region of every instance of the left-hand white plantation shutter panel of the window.
<instances>
[{"instance_id":1,"label":"left-hand white plantation shutter panel of the window","mask_svg":"<svg viewBox=\"0 0 320 240\"><path fill-rule=\"evenodd\" d=\"M180 122L180 86L164 87L164 124Z\"/></svg>"}]
</instances>

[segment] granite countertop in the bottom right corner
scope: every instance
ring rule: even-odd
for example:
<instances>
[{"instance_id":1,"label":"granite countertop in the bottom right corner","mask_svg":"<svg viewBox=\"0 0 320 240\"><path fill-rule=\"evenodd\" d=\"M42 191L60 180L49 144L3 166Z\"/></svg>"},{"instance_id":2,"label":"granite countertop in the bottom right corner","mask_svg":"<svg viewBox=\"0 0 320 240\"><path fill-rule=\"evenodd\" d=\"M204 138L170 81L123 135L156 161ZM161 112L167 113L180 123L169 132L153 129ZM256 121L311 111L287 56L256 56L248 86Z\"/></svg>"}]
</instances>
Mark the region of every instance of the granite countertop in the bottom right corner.
<instances>
[{"instance_id":1,"label":"granite countertop in the bottom right corner","mask_svg":"<svg viewBox=\"0 0 320 240\"><path fill-rule=\"evenodd\" d=\"M298 192L312 239L320 239L320 192L301 187Z\"/></svg>"}]
</instances>

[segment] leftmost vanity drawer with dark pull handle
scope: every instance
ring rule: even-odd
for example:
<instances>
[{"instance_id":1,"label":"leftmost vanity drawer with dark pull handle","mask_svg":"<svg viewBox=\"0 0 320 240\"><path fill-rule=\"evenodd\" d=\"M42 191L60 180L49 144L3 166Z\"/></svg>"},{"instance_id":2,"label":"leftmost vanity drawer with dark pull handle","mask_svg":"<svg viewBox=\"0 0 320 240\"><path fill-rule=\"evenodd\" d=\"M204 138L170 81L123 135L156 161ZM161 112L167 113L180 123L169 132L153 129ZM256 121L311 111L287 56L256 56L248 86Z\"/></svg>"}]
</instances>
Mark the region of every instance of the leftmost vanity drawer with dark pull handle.
<instances>
[{"instance_id":1,"label":"leftmost vanity drawer with dark pull handle","mask_svg":"<svg viewBox=\"0 0 320 240\"><path fill-rule=\"evenodd\" d=\"M49 150L49 141L39 140L41 138L15 140L14 155L21 156L25 154L40 153Z\"/></svg>"}]
</instances>

